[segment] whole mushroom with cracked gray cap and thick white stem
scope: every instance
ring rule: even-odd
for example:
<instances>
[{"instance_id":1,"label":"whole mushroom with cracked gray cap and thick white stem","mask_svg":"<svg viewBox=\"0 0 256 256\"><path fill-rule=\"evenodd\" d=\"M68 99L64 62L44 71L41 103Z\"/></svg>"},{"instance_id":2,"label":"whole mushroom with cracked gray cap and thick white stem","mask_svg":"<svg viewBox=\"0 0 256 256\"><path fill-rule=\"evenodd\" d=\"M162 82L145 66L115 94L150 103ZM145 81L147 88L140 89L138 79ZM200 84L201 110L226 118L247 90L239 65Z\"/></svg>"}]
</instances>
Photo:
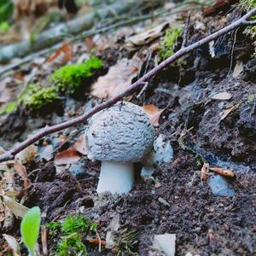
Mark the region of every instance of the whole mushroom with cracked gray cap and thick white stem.
<instances>
[{"instance_id":1,"label":"whole mushroom with cracked gray cap and thick white stem","mask_svg":"<svg viewBox=\"0 0 256 256\"><path fill-rule=\"evenodd\" d=\"M97 193L127 194L134 183L133 163L153 148L154 129L139 106L118 102L90 119L84 142L88 158L102 161Z\"/></svg>"}]
</instances>

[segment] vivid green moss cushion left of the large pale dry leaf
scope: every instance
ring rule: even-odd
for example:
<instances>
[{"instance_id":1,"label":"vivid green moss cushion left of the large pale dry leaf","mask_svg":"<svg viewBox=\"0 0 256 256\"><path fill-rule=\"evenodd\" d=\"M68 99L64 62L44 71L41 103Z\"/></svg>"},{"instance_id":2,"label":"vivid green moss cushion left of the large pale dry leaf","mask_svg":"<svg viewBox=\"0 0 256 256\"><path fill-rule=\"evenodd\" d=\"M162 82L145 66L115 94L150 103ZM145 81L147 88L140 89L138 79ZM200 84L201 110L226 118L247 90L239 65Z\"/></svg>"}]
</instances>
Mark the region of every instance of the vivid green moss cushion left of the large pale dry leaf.
<instances>
[{"instance_id":1,"label":"vivid green moss cushion left of the large pale dry leaf","mask_svg":"<svg viewBox=\"0 0 256 256\"><path fill-rule=\"evenodd\" d=\"M49 81L57 84L59 90L73 94L82 84L83 79L93 76L94 71L102 67L102 61L91 57L81 64L69 64L53 73Z\"/></svg>"}]
</instances>

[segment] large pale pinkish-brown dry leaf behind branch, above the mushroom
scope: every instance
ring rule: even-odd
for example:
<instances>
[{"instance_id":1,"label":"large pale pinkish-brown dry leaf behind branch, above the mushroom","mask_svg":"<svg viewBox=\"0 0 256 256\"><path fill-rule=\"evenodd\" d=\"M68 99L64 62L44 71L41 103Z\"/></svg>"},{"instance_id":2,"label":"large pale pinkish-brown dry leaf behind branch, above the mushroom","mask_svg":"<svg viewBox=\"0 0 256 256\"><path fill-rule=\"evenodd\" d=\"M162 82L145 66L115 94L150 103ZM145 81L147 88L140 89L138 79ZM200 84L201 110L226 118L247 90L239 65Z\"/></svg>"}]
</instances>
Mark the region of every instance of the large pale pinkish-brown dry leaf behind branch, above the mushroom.
<instances>
[{"instance_id":1,"label":"large pale pinkish-brown dry leaf behind branch, above the mushroom","mask_svg":"<svg viewBox=\"0 0 256 256\"><path fill-rule=\"evenodd\" d=\"M137 75L142 61L133 58L121 59L108 73L100 77L91 87L91 94L99 98L110 98L125 90L131 85L131 80Z\"/></svg>"}]
</instances>

